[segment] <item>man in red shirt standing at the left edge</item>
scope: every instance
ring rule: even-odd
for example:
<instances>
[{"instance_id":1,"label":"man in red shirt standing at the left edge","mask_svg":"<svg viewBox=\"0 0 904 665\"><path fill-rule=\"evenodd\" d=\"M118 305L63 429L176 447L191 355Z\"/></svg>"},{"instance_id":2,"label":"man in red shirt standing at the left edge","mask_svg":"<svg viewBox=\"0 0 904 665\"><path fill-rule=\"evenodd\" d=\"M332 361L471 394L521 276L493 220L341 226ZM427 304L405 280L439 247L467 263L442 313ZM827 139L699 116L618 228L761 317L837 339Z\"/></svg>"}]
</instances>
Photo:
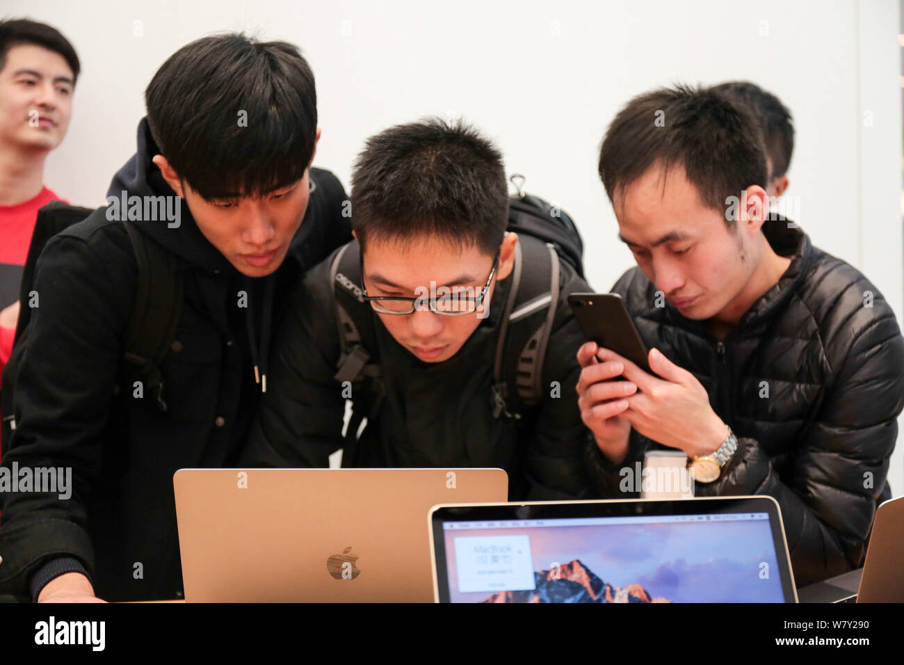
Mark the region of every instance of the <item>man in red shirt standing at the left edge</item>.
<instances>
[{"instance_id":1,"label":"man in red shirt standing at the left edge","mask_svg":"<svg viewBox=\"0 0 904 665\"><path fill-rule=\"evenodd\" d=\"M79 56L50 25L0 22L0 370L13 348L19 283L42 205L44 160L66 136Z\"/></svg>"}]
</instances>

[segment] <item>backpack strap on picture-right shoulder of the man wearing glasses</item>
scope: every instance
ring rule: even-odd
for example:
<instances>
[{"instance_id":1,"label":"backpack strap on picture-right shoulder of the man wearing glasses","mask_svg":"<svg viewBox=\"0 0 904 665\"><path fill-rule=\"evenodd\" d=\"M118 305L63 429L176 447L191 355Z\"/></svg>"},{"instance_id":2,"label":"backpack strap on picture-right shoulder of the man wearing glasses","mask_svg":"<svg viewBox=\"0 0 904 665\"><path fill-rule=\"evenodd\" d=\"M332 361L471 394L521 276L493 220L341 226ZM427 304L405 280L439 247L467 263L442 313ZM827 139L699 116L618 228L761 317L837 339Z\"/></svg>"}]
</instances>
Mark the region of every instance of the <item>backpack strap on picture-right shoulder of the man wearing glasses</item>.
<instances>
[{"instance_id":1,"label":"backpack strap on picture-right shoulder of the man wearing glasses","mask_svg":"<svg viewBox=\"0 0 904 665\"><path fill-rule=\"evenodd\" d=\"M541 400L543 360L559 304L559 254L522 235L494 362L494 415L520 420L524 406ZM518 264L531 270L517 270ZM500 401L500 393L503 399Z\"/></svg>"}]
</instances>

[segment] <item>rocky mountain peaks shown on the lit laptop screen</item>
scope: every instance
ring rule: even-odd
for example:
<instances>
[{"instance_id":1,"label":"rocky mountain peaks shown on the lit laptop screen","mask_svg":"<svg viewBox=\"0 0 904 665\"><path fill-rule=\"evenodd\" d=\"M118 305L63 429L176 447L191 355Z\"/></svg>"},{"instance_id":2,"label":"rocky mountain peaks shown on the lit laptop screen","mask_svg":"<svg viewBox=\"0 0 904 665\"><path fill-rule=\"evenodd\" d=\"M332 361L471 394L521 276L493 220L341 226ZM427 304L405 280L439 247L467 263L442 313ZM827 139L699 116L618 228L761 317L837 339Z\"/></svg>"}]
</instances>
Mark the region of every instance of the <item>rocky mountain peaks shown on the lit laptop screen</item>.
<instances>
[{"instance_id":1,"label":"rocky mountain peaks shown on the lit laptop screen","mask_svg":"<svg viewBox=\"0 0 904 665\"><path fill-rule=\"evenodd\" d=\"M650 598L640 584L618 588L594 575L578 559L556 571L534 573L536 588L528 591L502 591L483 603L671 603L665 598Z\"/></svg>"}]
</instances>

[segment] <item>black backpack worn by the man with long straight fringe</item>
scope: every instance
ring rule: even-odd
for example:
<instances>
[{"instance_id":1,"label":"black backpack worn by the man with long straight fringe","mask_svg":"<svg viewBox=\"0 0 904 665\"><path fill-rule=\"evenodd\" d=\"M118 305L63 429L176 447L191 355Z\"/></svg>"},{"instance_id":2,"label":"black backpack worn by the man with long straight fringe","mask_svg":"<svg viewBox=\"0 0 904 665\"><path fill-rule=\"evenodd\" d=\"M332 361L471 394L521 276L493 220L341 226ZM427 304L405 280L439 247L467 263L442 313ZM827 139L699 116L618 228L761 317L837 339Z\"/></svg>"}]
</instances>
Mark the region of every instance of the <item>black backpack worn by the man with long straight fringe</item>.
<instances>
[{"instance_id":1,"label":"black backpack worn by the man with long straight fringe","mask_svg":"<svg viewBox=\"0 0 904 665\"><path fill-rule=\"evenodd\" d=\"M15 430L13 395L16 375L28 341L28 322L32 317L29 302L33 294L34 269L38 256L47 241L57 233L91 215L105 215L106 211L106 207L94 210L64 204L61 201L52 201L38 211L19 289L21 305L16 322L13 352L4 367L3 388L0 390L0 413L3 413L0 439L4 452L9 447L10 438ZM158 242L139 232L132 223L127 221L123 223L126 225L138 263L135 309L129 324L126 352L123 356L125 361L123 374L127 376L129 384L133 380L141 381L144 388L154 395L156 408L165 411L167 407L159 366L179 323L183 299L182 271L177 270L177 261L172 252L166 251Z\"/></svg>"}]
</instances>

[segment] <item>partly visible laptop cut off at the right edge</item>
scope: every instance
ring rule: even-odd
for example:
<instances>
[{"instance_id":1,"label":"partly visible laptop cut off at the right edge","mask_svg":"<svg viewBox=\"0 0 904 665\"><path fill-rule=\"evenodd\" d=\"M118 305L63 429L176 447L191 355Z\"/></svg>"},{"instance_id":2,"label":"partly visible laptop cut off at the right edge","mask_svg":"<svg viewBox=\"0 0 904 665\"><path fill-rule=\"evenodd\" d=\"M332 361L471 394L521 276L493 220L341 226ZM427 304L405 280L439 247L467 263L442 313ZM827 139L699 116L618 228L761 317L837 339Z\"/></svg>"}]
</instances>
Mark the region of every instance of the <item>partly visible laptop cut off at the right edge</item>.
<instances>
[{"instance_id":1,"label":"partly visible laptop cut off at the right edge","mask_svg":"<svg viewBox=\"0 0 904 665\"><path fill-rule=\"evenodd\" d=\"M863 567L798 591L801 603L904 603L904 497L883 501Z\"/></svg>"}]
</instances>

